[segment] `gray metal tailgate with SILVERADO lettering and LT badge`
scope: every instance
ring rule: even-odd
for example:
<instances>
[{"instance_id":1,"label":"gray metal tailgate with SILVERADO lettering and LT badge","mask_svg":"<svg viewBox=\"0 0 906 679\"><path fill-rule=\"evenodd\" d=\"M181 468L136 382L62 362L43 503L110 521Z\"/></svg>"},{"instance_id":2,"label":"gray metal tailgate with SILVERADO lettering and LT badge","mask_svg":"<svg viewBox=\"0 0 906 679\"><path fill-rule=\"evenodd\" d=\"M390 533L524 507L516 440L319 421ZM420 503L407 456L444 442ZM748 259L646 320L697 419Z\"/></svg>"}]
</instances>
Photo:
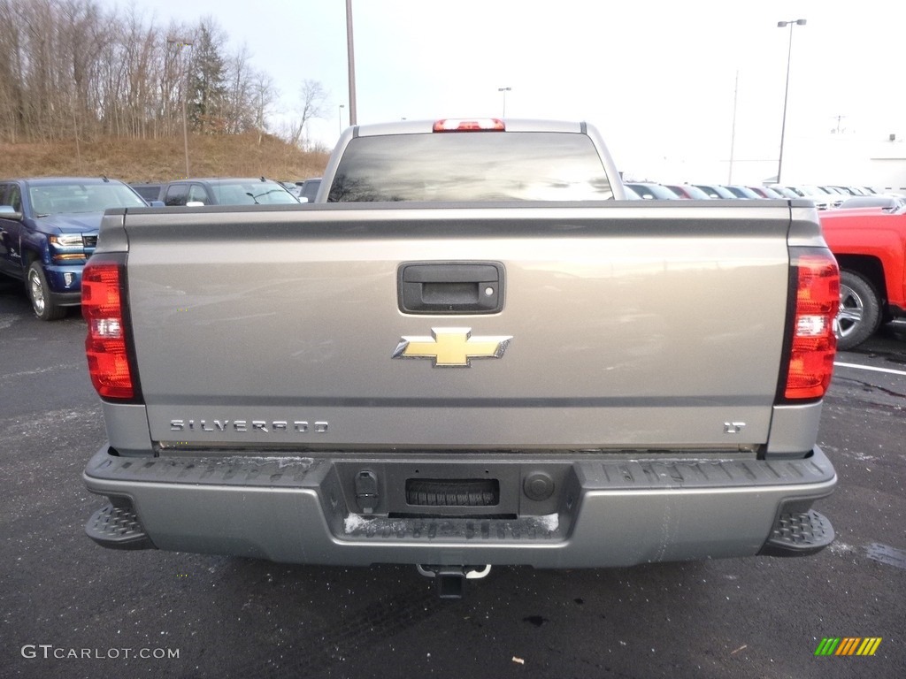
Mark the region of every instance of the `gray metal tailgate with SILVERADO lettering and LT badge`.
<instances>
[{"instance_id":1,"label":"gray metal tailgate with SILVERADO lettering and LT badge","mask_svg":"<svg viewBox=\"0 0 906 679\"><path fill-rule=\"evenodd\" d=\"M789 224L777 203L691 201L130 214L150 434L255 450L764 444ZM402 311L404 263L496 267L501 309Z\"/></svg>"}]
</instances>

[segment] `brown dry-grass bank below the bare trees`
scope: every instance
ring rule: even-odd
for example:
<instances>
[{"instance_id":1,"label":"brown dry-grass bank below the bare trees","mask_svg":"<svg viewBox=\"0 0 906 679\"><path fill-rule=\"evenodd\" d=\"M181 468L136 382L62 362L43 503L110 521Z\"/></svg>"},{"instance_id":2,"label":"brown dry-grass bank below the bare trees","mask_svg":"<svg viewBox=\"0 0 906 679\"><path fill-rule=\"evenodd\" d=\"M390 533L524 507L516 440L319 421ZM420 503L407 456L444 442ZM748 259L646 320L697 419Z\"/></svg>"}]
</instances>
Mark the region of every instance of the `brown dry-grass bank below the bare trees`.
<instances>
[{"instance_id":1,"label":"brown dry-grass bank below the bare trees","mask_svg":"<svg viewBox=\"0 0 906 679\"><path fill-rule=\"evenodd\" d=\"M308 152L275 137L190 135L193 177L320 177L329 154ZM46 144L0 143L0 178L106 177L127 182L168 181L186 176L183 138L75 139Z\"/></svg>"}]
</instances>

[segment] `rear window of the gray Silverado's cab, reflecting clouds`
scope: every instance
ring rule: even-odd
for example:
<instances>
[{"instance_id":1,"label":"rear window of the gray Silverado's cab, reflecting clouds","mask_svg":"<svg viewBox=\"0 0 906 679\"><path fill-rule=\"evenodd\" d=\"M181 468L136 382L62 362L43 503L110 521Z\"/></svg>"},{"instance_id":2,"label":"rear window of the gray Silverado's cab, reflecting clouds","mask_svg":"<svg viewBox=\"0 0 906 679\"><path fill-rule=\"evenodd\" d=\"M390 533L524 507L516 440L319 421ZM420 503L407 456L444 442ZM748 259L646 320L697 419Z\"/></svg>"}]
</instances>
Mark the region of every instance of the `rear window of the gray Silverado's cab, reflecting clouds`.
<instances>
[{"instance_id":1,"label":"rear window of the gray Silverado's cab, reflecting clouds","mask_svg":"<svg viewBox=\"0 0 906 679\"><path fill-rule=\"evenodd\" d=\"M327 200L605 200L592 140L562 132L445 132L352 139Z\"/></svg>"}]
</instances>

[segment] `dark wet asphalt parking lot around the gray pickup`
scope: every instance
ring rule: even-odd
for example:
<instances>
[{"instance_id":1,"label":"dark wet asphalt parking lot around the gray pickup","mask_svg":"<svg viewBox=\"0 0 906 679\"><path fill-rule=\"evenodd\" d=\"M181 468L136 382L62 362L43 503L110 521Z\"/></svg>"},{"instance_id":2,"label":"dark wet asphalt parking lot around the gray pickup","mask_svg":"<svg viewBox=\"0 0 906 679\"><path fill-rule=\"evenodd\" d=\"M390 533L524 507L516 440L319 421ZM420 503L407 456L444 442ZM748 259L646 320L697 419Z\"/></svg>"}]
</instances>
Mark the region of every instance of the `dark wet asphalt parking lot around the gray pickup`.
<instances>
[{"instance_id":1,"label":"dark wet asphalt parking lot around the gray pickup","mask_svg":"<svg viewBox=\"0 0 906 679\"><path fill-rule=\"evenodd\" d=\"M82 526L104 440L84 324L0 287L0 677L906 675L906 329L842 353L820 444L840 477L806 559L493 569L441 600L414 568L114 552ZM815 655L825 637L871 656Z\"/></svg>"}]
</instances>

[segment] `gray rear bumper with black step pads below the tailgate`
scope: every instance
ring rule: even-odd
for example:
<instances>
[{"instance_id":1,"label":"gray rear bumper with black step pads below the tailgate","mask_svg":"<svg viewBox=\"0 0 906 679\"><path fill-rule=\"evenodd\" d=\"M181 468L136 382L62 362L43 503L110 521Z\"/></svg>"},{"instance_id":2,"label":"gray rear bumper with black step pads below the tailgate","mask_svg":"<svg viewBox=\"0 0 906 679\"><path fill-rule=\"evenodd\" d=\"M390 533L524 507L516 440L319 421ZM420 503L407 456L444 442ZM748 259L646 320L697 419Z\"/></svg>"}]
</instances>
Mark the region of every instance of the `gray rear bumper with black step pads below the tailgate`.
<instances>
[{"instance_id":1,"label":"gray rear bumper with black step pads below the tailgate","mask_svg":"<svg viewBox=\"0 0 906 679\"><path fill-rule=\"evenodd\" d=\"M355 484L373 474L377 497ZM499 480L493 507L412 506L405 479ZM538 474L550 483L532 488ZM332 565L622 567L654 561L802 554L833 530L812 502L836 474L805 460L617 456L367 458L92 457L84 474L111 506L86 530L107 547L157 547ZM400 480L402 482L400 483ZM373 507L371 515L363 507ZM443 514L443 515L440 515ZM805 525L805 531L802 530ZM792 528L791 528L792 526Z\"/></svg>"}]
</instances>

